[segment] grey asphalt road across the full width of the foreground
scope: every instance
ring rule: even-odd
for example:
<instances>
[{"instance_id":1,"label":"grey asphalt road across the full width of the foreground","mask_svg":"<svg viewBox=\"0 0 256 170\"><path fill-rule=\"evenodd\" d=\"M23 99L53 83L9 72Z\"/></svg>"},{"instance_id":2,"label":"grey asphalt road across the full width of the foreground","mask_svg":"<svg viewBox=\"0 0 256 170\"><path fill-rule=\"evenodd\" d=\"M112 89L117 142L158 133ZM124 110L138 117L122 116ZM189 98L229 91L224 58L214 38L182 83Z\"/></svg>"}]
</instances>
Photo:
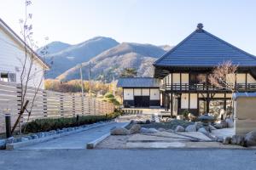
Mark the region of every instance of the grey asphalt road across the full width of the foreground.
<instances>
[{"instance_id":1,"label":"grey asphalt road across the full width of the foreground","mask_svg":"<svg viewBox=\"0 0 256 170\"><path fill-rule=\"evenodd\" d=\"M1 170L255 170L256 150L0 150Z\"/></svg>"}]
</instances>

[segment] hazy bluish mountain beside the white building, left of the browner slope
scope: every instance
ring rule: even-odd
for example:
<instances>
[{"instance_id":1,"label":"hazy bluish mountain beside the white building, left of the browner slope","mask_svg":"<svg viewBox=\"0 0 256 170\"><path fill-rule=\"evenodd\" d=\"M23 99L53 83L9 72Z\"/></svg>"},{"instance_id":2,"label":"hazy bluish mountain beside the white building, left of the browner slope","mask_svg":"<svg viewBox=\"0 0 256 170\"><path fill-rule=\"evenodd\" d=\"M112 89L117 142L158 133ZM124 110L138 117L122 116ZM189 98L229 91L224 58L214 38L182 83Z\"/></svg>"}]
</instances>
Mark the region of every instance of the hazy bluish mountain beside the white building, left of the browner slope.
<instances>
[{"instance_id":1,"label":"hazy bluish mountain beside the white building, left of the browner slope","mask_svg":"<svg viewBox=\"0 0 256 170\"><path fill-rule=\"evenodd\" d=\"M51 42L47 45L49 47L49 50L47 49L49 54L45 56L45 60L52 65L45 77L58 77L61 73L73 66L89 61L96 55L118 44L119 42L116 42L110 37L94 37L75 45L69 45L63 42ZM38 49L38 54L40 54L40 50L42 49Z\"/></svg>"}]
</instances>

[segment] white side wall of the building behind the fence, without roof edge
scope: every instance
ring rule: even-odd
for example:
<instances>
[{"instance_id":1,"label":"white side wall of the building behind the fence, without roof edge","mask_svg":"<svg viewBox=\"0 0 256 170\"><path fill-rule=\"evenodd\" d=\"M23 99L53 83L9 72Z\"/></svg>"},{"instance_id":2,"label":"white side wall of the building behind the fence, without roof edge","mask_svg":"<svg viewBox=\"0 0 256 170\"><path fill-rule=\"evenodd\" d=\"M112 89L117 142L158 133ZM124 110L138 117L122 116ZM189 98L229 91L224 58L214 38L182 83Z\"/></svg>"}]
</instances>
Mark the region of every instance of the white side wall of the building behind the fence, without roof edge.
<instances>
[{"instance_id":1,"label":"white side wall of the building behind the fence, without roof edge","mask_svg":"<svg viewBox=\"0 0 256 170\"><path fill-rule=\"evenodd\" d=\"M4 31L0 26L0 72L15 73L16 82L20 83L20 74L22 71L22 65L25 60L24 48L15 41L8 32ZM31 59L30 57L28 57ZM29 61L26 62L26 74L29 68ZM31 81L28 82L30 87L37 88L41 78L43 76L42 65L38 61L34 61L32 66L32 72L30 75L35 75ZM41 84L41 88L44 88L44 80Z\"/></svg>"}]
</instances>

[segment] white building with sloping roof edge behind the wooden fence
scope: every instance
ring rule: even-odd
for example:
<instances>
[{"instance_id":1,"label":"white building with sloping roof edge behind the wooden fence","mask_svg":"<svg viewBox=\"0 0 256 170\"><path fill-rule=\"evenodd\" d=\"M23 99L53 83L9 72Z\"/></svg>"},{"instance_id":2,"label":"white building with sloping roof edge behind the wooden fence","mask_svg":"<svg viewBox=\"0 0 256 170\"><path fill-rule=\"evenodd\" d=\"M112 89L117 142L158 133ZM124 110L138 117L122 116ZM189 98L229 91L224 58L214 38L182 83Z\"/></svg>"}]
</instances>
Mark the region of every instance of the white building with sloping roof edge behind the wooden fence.
<instances>
[{"instance_id":1,"label":"white building with sloping roof edge behind the wooden fence","mask_svg":"<svg viewBox=\"0 0 256 170\"><path fill-rule=\"evenodd\" d=\"M20 75L25 61L25 42L3 20L0 19L0 81L20 83ZM49 66L31 48L28 50L26 62L26 74L28 73L30 60L33 59L31 77L28 86L44 88L44 71ZM33 54L33 55L32 55ZM43 80L43 81L42 81Z\"/></svg>"}]
</instances>

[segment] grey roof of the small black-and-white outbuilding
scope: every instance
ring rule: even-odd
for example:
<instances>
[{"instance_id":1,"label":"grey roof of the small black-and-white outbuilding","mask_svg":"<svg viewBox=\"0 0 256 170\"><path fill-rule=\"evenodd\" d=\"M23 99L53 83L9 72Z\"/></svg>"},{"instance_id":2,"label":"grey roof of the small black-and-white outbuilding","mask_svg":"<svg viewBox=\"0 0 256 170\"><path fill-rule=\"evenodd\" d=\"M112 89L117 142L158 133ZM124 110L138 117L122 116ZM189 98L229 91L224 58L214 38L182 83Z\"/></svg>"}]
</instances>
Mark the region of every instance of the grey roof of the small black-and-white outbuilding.
<instances>
[{"instance_id":1,"label":"grey roof of the small black-and-white outbuilding","mask_svg":"<svg viewBox=\"0 0 256 170\"><path fill-rule=\"evenodd\" d=\"M152 77L119 78L119 88L159 88L159 82Z\"/></svg>"}]
</instances>

